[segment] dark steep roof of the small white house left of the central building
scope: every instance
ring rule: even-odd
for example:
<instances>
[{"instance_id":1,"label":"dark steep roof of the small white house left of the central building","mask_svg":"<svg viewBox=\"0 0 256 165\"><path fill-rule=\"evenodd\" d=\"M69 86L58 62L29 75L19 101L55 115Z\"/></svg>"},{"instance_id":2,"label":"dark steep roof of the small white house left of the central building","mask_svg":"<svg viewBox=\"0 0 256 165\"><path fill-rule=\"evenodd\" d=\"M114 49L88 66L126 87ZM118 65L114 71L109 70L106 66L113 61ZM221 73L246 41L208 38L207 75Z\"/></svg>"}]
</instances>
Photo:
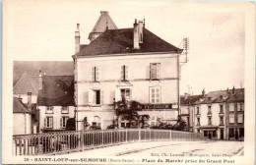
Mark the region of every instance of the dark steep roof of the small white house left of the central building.
<instances>
[{"instance_id":1,"label":"dark steep roof of the small white house left of the central building","mask_svg":"<svg viewBox=\"0 0 256 165\"><path fill-rule=\"evenodd\" d=\"M74 76L43 76L38 106L73 106Z\"/></svg>"}]
</instances>

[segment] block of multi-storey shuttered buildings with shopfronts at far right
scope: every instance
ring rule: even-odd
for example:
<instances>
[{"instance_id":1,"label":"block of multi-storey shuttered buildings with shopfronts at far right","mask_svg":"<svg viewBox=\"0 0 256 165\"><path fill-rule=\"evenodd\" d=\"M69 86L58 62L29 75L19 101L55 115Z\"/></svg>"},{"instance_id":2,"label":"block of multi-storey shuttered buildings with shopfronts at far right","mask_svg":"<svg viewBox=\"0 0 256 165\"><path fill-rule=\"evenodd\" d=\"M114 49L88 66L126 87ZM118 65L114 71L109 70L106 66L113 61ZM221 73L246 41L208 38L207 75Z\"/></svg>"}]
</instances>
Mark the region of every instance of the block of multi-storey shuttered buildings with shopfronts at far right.
<instances>
[{"instance_id":1,"label":"block of multi-storey shuttered buildings with shopfronts at far right","mask_svg":"<svg viewBox=\"0 0 256 165\"><path fill-rule=\"evenodd\" d=\"M195 132L205 138L244 138L244 88L210 91L194 104Z\"/></svg>"}]
</instances>

